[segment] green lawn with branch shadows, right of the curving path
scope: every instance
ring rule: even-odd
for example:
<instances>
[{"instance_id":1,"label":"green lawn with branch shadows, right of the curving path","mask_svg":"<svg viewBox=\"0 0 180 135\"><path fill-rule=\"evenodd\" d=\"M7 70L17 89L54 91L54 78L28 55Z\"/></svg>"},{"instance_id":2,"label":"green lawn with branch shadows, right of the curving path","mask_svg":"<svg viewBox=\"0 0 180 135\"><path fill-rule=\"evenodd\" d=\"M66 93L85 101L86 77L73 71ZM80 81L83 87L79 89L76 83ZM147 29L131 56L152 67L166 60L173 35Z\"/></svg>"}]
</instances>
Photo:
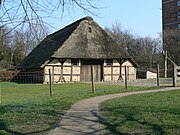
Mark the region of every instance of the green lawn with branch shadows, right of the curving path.
<instances>
[{"instance_id":1,"label":"green lawn with branch shadows, right of the curving path","mask_svg":"<svg viewBox=\"0 0 180 135\"><path fill-rule=\"evenodd\" d=\"M131 95L101 104L112 134L180 134L180 90Z\"/></svg>"}]
</instances>

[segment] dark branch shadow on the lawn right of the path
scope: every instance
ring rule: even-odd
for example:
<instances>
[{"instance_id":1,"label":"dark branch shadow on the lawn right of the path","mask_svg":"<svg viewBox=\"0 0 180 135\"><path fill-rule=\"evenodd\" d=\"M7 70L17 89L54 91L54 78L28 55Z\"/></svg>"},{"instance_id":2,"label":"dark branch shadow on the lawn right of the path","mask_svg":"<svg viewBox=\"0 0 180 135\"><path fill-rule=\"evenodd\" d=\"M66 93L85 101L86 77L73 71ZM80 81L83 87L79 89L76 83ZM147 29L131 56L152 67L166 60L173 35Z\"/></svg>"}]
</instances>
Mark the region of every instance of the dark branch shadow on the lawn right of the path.
<instances>
[{"instance_id":1,"label":"dark branch shadow on the lawn right of the path","mask_svg":"<svg viewBox=\"0 0 180 135\"><path fill-rule=\"evenodd\" d=\"M150 121L146 121L146 120L138 119L136 116L140 112L138 112L136 110L136 108L134 108L134 109L133 109L133 107L130 107L130 108L131 108L131 110L134 110L134 112L132 112L132 111L129 111L129 112L128 111L116 112L116 113L118 113L118 115L120 117L122 117L122 119L117 121L117 122L110 123L107 120L105 120L102 116L99 116L100 122L102 124L106 125L107 129L112 134L115 134L115 135L131 135L131 134L158 134L158 135L164 135L164 134L166 134L163 125L151 123ZM113 109L117 109L117 108L111 108L111 111L113 111ZM123 109L124 108L122 108L122 110ZM127 110L127 108L125 108L125 110ZM135 126L139 125L141 127L141 129L138 128L138 127L132 129L133 131L128 130L128 127L126 127L127 131L120 131L118 129L118 128L123 127L124 125L127 125L127 123L131 123L131 124L133 123ZM143 129L143 127L145 127L145 128ZM129 127L129 128L132 128L132 127Z\"/></svg>"}]
</instances>

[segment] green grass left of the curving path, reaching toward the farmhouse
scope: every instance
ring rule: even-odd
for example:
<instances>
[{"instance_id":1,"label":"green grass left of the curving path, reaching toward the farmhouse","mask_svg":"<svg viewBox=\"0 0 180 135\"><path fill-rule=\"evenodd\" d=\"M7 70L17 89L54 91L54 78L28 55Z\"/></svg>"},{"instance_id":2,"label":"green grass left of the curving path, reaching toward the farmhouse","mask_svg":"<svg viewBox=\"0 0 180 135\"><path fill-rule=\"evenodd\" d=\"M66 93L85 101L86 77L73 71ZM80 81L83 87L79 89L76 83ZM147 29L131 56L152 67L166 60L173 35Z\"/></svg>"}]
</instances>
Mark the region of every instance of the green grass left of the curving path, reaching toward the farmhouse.
<instances>
[{"instance_id":1,"label":"green grass left of the curving path, reaching toward the farmhouse","mask_svg":"<svg viewBox=\"0 0 180 135\"><path fill-rule=\"evenodd\" d=\"M128 87L96 85L91 92L89 83L53 85L16 84L1 82L0 134L47 134L55 128L63 113L79 100L111 93L155 89L157 87Z\"/></svg>"}]
</instances>

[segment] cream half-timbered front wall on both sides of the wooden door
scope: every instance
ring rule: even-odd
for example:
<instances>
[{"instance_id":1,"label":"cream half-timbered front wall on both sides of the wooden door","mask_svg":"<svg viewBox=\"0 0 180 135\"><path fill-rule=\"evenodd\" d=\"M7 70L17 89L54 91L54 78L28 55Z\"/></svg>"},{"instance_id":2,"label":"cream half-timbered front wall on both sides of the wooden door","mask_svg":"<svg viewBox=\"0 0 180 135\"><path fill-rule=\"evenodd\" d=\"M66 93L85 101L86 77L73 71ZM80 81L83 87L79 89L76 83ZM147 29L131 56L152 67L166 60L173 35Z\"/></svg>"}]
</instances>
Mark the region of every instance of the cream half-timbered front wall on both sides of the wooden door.
<instances>
[{"instance_id":1,"label":"cream half-timbered front wall on both sides of the wooden door","mask_svg":"<svg viewBox=\"0 0 180 135\"><path fill-rule=\"evenodd\" d=\"M103 81L118 81L125 78L125 66L127 68L127 79L136 79L136 68L129 61L125 61L121 68L121 78L120 78L120 64L117 60L112 60L111 63L107 63L104 60L103 64ZM47 64L44 68L44 82L49 82L49 69L51 71L52 82L79 82L81 81L81 61L77 65L71 62L71 59L67 59L63 63L63 80L61 80L61 63L58 60L53 60Z\"/></svg>"}]
</instances>

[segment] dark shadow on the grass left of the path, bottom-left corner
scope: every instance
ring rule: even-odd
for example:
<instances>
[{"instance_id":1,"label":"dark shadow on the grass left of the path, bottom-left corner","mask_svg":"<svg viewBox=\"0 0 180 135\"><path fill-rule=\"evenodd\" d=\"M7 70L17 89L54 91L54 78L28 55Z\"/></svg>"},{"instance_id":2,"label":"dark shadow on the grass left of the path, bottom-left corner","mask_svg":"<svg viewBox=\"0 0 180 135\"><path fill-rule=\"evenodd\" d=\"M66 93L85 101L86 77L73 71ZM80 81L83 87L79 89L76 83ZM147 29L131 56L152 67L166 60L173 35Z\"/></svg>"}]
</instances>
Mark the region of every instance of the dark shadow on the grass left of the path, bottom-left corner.
<instances>
[{"instance_id":1,"label":"dark shadow on the grass left of the path, bottom-left corner","mask_svg":"<svg viewBox=\"0 0 180 135\"><path fill-rule=\"evenodd\" d=\"M32 109L29 109L26 106L23 105L4 105L4 106L0 106L0 134L2 135L31 135L31 134L45 134L47 132L49 132L50 130L54 129L57 125L58 122L57 119L53 119L53 117L59 118L62 113L56 112L54 110L41 110L41 111L34 111L33 110L33 114L31 114ZM26 114L25 116L23 116L24 114ZM14 115L14 116L13 116ZM22 115L22 117L21 117ZM19 124L21 124L22 121L27 120L26 122L28 122L28 120L31 121L31 117L33 117L32 115L43 115L45 116L43 120L46 119L51 119L51 121L46 122L46 126L42 127L41 129L36 128L36 129L31 129L29 131L27 131L27 129L25 129L24 131L15 131L12 130L10 128L9 125L16 125L16 123L11 120L11 117L16 117L16 122ZM31 116L31 117L26 117L26 116ZM46 118L46 119L45 119ZM42 119L36 119L35 122L41 122ZM34 121L32 120L32 123ZM22 125L26 125L26 123L22 123ZM35 126L37 125L37 123L35 124ZM21 126L21 125L20 125Z\"/></svg>"}]
</instances>

